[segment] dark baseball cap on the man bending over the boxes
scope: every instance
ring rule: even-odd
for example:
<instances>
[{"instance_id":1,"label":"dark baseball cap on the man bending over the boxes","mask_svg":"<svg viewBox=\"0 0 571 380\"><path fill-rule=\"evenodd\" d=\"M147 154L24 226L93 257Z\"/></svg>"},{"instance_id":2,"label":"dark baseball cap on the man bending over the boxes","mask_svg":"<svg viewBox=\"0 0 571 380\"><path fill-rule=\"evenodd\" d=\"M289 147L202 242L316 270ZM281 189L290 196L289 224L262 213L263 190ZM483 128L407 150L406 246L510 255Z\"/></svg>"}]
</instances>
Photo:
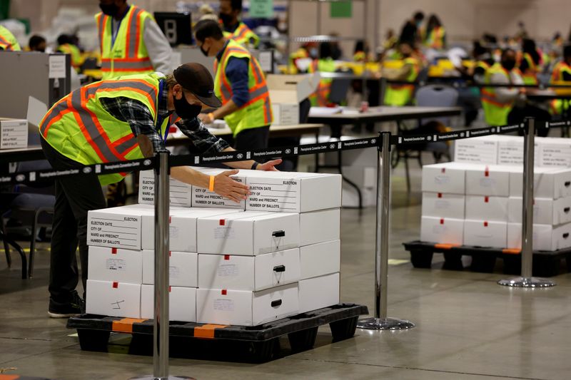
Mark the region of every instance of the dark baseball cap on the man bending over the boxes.
<instances>
[{"instance_id":1,"label":"dark baseball cap on the man bending over the boxes","mask_svg":"<svg viewBox=\"0 0 571 380\"><path fill-rule=\"evenodd\" d=\"M186 91L192 93L206 106L222 106L214 95L214 81L208 69L200 63L184 63L173 71L173 76Z\"/></svg>"}]
</instances>

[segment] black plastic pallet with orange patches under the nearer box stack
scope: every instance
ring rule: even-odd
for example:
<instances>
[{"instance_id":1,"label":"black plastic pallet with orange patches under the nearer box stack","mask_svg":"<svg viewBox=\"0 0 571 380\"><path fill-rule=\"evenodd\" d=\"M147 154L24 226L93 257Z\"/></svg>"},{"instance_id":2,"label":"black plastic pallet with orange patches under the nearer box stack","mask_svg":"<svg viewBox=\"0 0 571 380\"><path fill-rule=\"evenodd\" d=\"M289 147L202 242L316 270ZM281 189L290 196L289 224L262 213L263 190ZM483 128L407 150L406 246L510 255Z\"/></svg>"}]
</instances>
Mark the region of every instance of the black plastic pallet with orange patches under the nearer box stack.
<instances>
[{"instance_id":1,"label":"black plastic pallet with orange patches under the nearer box stack","mask_svg":"<svg viewBox=\"0 0 571 380\"><path fill-rule=\"evenodd\" d=\"M209 359L207 351L213 351L217 360L225 359L223 352L230 360L268 361L279 353L279 338L285 335L295 352L312 348L324 324L329 324L334 342L353 337L362 314L368 314L366 306L338 304L255 327L171 321L171 356ZM130 354L153 352L153 319L84 314L70 318L67 327L77 330L79 345L86 351L107 351L111 332L118 332L131 334Z\"/></svg>"}]
</instances>

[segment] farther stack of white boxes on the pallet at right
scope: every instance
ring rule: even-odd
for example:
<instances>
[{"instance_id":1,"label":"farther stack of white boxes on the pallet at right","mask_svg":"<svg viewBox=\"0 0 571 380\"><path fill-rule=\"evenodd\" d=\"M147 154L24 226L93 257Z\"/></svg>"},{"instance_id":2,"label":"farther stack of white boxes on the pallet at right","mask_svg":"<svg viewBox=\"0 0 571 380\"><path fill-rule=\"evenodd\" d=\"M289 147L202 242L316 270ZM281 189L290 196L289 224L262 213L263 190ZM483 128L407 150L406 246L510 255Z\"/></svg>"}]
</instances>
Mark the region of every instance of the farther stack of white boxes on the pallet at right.
<instances>
[{"instance_id":1,"label":"farther stack of white boxes on the pallet at right","mask_svg":"<svg viewBox=\"0 0 571 380\"><path fill-rule=\"evenodd\" d=\"M521 247L523 139L458 140L455 162L423 167L425 242ZM537 138L534 250L571 247L571 144Z\"/></svg>"}]
</instances>

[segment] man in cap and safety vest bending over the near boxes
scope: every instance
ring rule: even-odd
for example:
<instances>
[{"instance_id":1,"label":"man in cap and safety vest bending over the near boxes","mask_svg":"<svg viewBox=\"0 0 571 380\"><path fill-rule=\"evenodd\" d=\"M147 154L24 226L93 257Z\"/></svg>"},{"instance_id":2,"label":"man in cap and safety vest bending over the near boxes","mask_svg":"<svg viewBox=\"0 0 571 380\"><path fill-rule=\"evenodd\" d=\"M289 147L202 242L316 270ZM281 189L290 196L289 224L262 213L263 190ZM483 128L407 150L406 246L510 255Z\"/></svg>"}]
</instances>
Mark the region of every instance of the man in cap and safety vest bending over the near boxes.
<instances>
[{"instance_id":1,"label":"man in cap and safety vest bending over the near boxes","mask_svg":"<svg viewBox=\"0 0 571 380\"><path fill-rule=\"evenodd\" d=\"M218 107L214 83L208 70L186 63L173 74L121 76L81 87L62 98L41 120L41 146L56 170L80 169L83 165L135 160L166 152L169 126L176 115L178 129L190 138L189 145L201 153L233 150L211 135L196 116L203 106ZM254 161L228 163L232 168L274 170L281 160L256 165ZM208 176L190 167L171 168L171 176L183 183L214 192L235 202L246 199L248 187L229 176L227 170ZM51 317L69 317L81 312L76 292L79 275L75 260L79 243L81 278L86 289L88 247L87 213L106 207L101 185L115 183L126 173L75 175L56 179L56 206L51 238ZM89 290L89 289L88 289ZM85 297L85 294L84 294Z\"/></svg>"}]
</instances>

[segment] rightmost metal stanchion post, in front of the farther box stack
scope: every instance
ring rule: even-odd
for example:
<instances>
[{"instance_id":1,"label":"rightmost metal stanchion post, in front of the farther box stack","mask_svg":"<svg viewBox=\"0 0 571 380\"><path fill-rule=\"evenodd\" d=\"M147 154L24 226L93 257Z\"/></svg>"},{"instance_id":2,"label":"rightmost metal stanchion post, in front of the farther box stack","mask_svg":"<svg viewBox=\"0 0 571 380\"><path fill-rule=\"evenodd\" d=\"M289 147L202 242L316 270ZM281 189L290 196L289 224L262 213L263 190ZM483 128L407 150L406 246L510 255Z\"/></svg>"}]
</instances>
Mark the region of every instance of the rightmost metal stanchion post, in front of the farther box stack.
<instances>
[{"instance_id":1,"label":"rightmost metal stanchion post, in front of the farther box stack","mask_svg":"<svg viewBox=\"0 0 571 380\"><path fill-rule=\"evenodd\" d=\"M520 277L501 279L507 287L553 287L555 282L532 276L533 268L533 168L535 165L535 119L527 118L523 134L522 272Z\"/></svg>"}]
</instances>

